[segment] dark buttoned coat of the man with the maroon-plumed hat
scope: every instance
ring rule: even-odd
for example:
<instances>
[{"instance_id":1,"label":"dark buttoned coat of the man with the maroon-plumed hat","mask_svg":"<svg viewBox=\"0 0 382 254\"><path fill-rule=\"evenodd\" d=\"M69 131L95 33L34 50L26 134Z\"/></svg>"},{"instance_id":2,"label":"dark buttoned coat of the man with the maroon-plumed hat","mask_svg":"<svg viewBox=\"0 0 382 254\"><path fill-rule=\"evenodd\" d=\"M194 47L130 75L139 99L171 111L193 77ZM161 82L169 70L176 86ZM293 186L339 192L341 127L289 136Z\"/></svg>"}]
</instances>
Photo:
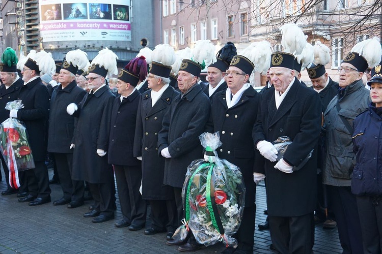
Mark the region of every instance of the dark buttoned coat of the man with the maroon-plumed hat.
<instances>
[{"instance_id":1,"label":"dark buttoned coat of the man with the maroon-plumed hat","mask_svg":"<svg viewBox=\"0 0 382 254\"><path fill-rule=\"evenodd\" d=\"M113 102L112 122L108 148L108 163L118 166L141 166L133 156L135 121L141 93L135 89L121 102L118 96Z\"/></svg>"}]
</instances>

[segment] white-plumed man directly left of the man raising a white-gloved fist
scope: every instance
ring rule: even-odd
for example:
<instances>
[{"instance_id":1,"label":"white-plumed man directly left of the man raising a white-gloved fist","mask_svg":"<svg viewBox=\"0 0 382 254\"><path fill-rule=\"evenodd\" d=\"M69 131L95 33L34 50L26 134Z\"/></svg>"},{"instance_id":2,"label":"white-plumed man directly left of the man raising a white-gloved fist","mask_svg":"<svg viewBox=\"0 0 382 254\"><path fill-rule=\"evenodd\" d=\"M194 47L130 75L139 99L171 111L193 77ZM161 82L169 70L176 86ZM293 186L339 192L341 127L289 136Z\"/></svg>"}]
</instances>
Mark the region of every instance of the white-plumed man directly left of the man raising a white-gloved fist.
<instances>
[{"instance_id":1,"label":"white-plumed man directly left of the man raising a white-gloved fist","mask_svg":"<svg viewBox=\"0 0 382 254\"><path fill-rule=\"evenodd\" d=\"M75 62L75 63L73 63ZM76 208L84 204L84 181L72 179L74 117L66 113L70 103L79 104L86 92L77 86L75 73L85 68L88 57L81 50L69 51L66 54L58 81L60 85L53 89L50 99L48 152L54 156L63 196L53 205L67 205ZM54 179L54 178L53 178Z\"/></svg>"}]
</instances>

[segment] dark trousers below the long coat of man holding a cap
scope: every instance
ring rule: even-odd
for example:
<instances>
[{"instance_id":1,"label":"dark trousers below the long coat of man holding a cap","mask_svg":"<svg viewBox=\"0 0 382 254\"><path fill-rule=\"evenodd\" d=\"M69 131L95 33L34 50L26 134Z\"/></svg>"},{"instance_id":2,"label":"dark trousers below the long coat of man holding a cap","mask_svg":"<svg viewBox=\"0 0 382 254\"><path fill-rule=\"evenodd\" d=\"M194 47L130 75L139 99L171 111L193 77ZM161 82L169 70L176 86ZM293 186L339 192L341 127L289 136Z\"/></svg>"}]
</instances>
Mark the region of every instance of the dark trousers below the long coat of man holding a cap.
<instances>
[{"instance_id":1,"label":"dark trousers below the long coat of man holding a cap","mask_svg":"<svg viewBox=\"0 0 382 254\"><path fill-rule=\"evenodd\" d=\"M296 217L269 216L270 238L282 254L310 254L314 245L313 212Z\"/></svg>"}]
</instances>

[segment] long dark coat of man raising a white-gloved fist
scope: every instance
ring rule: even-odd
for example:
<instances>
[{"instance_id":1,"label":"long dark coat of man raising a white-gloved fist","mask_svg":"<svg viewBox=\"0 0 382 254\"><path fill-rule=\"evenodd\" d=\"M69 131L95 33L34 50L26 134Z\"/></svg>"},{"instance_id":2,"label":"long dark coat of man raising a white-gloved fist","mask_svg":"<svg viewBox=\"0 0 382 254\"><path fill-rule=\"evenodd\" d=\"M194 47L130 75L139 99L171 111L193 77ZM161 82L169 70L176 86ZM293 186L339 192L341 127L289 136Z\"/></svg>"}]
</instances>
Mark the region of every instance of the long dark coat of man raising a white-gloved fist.
<instances>
[{"instance_id":1,"label":"long dark coat of man raising a white-gloved fist","mask_svg":"<svg viewBox=\"0 0 382 254\"><path fill-rule=\"evenodd\" d=\"M107 156L98 156L97 149L107 151L114 99L105 85L94 94L85 94L74 113L78 117L72 141L74 180L104 183L108 179Z\"/></svg>"}]
</instances>

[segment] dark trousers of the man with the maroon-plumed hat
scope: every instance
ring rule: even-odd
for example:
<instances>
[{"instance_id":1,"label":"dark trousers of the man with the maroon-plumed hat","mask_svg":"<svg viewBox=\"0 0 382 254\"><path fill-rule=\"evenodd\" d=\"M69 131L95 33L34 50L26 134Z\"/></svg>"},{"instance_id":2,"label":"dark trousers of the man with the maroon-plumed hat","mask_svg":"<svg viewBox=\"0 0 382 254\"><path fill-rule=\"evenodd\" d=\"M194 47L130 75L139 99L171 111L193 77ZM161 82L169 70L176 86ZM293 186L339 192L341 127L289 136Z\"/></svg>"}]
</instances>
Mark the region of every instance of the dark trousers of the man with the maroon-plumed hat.
<instances>
[{"instance_id":1,"label":"dark trousers of the man with the maroon-plumed hat","mask_svg":"<svg viewBox=\"0 0 382 254\"><path fill-rule=\"evenodd\" d=\"M146 201L139 192L142 181L141 166L114 165L116 174L119 202L123 218L131 225L146 224Z\"/></svg>"}]
</instances>

